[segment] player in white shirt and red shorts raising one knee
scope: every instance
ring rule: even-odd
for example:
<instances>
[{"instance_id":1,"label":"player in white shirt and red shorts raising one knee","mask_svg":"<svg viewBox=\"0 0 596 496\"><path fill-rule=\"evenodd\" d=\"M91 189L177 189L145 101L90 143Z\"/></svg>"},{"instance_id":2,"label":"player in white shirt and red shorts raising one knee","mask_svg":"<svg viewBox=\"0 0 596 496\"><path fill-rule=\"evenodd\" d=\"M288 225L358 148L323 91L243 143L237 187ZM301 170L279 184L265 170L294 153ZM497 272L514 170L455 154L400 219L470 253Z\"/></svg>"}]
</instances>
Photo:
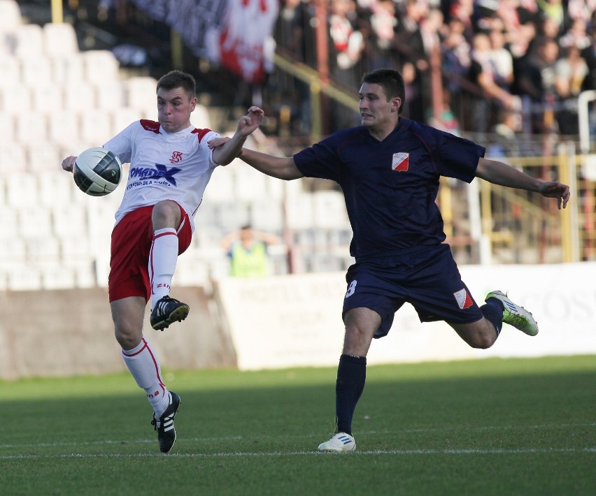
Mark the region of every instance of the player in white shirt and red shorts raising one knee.
<instances>
[{"instance_id":1,"label":"player in white shirt and red shorts raising one knee","mask_svg":"<svg viewBox=\"0 0 596 496\"><path fill-rule=\"evenodd\" d=\"M192 126L196 105L192 75L171 71L157 82L157 122L133 122L104 144L122 163L130 162L111 242L108 293L115 337L153 407L152 425L164 453L176 441L180 397L166 388L157 357L143 336L145 308L151 301L150 323L157 330L186 318L188 305L169 296L176 259L190 245L194 214L211 173L239 154L263 119L263 111L251 107L232 139L211 150L207 141L220 135ZM62 168L72 172L75 161L76 156L66 157Z\"/></svg>"}]
</instances>

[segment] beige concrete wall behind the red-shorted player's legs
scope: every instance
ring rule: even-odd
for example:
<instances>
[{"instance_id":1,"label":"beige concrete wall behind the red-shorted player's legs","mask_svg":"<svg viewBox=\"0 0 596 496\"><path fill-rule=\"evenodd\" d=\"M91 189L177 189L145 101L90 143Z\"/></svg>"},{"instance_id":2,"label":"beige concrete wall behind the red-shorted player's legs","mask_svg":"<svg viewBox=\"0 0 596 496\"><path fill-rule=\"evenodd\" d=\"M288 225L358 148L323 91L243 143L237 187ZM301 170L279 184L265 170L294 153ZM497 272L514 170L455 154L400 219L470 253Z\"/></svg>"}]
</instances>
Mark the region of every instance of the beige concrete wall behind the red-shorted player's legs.
<instances>
[{"instance_id":1,"label":"beige concrete wall behind the red-shorted player's legs","mask_svg":"<svg viewBox=\"0 0 596 496\"><path fill-rule=\"evenodd\" d=\"M201 288L173 292L190 305L183 322L144 332L164 369L235 367L232 342ZM0 291L0 379L125 370L107 290Z\"/></svg>"}]
</instances>

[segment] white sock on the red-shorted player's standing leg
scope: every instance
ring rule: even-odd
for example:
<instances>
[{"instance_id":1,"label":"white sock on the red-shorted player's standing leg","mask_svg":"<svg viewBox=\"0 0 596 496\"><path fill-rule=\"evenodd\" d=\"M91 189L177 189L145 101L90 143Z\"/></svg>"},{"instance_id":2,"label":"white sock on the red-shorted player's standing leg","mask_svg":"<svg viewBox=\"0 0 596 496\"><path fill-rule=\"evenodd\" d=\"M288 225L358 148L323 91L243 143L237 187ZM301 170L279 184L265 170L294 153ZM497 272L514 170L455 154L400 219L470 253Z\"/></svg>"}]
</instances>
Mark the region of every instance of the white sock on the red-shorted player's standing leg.
<instances>
[{"instance_id":1,"label":"white sock on the red-shorted player's standing leg","mask_svg":"<svg viewBox=\"0 0 596 496\"><path fill-rule=\"evenodd\" d=\"M139 346L123 349L122 358L136 384L147 393L155 416L161 416L169 405L170 395L162 382L162 371L149 343L143 337Z\"/></svg>"}]
</instances>

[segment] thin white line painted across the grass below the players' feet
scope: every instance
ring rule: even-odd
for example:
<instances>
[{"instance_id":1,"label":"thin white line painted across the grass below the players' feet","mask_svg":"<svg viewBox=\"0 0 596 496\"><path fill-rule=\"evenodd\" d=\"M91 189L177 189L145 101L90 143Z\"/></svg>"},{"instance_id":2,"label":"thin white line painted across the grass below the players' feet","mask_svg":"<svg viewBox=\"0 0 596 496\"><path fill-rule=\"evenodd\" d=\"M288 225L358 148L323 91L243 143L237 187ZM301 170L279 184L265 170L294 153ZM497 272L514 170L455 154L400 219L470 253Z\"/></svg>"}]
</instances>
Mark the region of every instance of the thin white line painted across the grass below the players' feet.
<instances>
[{"instance_id":1,"label":"thin white line painted across the grass below the players' feet","mask_svg":"<svg viewBox=\"0 0 596 496\"><path fill-rule=\"evenodd\" d=\"M367 455L540 455L548 453L596 453L595 448L527 448L527 449L390 449L373 451L356 451L342 453L346 456ZM243 452L231 451L222 453L64 453L62 455L0 455L0 460L41 460L52 458L253 458L273 456L316 455L329 456L334 453L321 453L320 451L270 451L270 452Z\"/></svg>"}]
</instances>

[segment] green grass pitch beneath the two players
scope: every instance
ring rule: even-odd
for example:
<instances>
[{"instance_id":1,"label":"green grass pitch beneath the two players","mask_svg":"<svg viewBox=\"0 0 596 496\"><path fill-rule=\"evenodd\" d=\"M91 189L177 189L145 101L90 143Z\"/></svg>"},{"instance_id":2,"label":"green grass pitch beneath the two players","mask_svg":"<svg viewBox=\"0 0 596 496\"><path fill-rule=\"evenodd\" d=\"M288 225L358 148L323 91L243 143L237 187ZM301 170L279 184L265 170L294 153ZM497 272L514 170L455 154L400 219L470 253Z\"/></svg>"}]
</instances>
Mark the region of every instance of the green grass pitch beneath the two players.
<instances>
[{"instance_id":1,"label":"green grass pitch beneath the two players","mask_svg":"<svg viewBox=\"0 0 596 496\"><path fill-rule=\"evenodd\" d=\"M596 494L596 356L369 366L343 455L334 368L163 372L168 455L128 374L0 382L0 494Z\"/></svg>"}]
</instances>

